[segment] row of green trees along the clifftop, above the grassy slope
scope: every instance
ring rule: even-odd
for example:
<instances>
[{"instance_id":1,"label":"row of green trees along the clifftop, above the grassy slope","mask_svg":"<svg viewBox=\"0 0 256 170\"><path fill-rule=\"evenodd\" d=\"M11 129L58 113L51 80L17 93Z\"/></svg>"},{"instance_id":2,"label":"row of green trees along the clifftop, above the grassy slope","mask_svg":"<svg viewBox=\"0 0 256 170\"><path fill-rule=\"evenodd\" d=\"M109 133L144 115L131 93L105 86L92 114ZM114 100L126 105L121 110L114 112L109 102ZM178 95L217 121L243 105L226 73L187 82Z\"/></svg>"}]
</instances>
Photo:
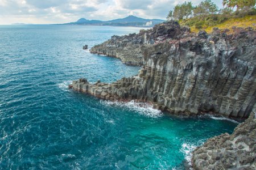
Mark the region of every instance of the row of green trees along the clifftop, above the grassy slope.
<instances>
[{"instance_id":1,"label":"row of green trees along the clifftop, above the grassy slope","mask_svg":"<svg viewBox=\"0 0 256 170\"><path fill-rule=\"evenodd\" d=\"M234 9L236 11L254 8L255 0L223 0L223 7L219 9L211 0L204 0L197 6L193 6L191 2L184 2L169 11L167 19L181 20L192 18L194 16L206 16L210 14L231 14Z\"/></svg>"}]
</instances>

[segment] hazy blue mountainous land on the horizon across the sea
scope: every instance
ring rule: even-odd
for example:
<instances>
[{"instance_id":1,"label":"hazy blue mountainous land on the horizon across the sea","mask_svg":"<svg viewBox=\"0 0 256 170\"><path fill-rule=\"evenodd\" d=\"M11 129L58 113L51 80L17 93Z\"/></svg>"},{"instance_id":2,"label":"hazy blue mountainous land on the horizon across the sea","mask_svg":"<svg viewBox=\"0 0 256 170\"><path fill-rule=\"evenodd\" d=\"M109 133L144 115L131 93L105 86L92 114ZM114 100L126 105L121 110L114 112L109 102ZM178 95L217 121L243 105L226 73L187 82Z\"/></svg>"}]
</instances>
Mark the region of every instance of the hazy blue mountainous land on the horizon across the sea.
<instances>
[{"instance_id":1,"label":"hazy blue mountainous land on the horizon across the sea","mask_svg":"<svg viewBox=\"0 0 256 170\"><path fill-rule=\"evenodd\" d=\"M61 25L99 25L99 26L118 26L118 27L153 27L155 24L164 22L162 19L144 19L137 16L127 16L126 18L102 21L88 20L81 18L77 22L65 23Z\"/></svg>"}]
</instances>

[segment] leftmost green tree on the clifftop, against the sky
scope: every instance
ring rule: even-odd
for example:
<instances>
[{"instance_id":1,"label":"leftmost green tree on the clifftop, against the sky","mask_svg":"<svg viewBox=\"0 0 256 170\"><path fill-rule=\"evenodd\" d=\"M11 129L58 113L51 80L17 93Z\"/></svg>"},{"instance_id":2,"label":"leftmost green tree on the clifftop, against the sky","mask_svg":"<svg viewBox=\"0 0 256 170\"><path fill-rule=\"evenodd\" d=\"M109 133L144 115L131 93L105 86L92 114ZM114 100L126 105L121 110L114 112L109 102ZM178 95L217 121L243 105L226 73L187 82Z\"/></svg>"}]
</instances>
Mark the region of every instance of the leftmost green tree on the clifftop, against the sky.
<instances>
[{"instance_id":1,"label":"leftmost green tree on the clifftop, against the sky","mask_svg":"<svg viewBox=\"0 0 256 170\"><path fill-rule=\"evenodd\" d=\"M192 16L193 6L191 2L184 2L181 5L176 5L174 11L169 11L167 19L181 20Z\"/></svg>"}]
</instances>

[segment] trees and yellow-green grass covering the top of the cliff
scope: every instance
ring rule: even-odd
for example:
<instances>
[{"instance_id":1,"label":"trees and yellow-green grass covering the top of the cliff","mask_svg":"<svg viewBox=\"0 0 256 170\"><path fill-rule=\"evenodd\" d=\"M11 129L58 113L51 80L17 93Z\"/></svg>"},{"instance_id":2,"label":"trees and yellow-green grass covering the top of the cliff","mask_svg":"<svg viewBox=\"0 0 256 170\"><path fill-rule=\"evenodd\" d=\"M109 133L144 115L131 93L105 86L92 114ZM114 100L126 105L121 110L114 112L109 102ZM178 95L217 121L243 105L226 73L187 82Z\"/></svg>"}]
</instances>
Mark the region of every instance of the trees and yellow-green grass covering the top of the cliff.
<instances>
[{"instance_id":1,"label":"trees and yellow-green grass covering the top of the cliff","mask_svg":"<svg viewBox=\"0 0 256 170\"><path fill-rule=\"evenodd\" d=\"M176 5L167 19L178 20L181 25L188 25L193 32L205 29L211 32L213 27L256 28L255 0L223 0L223 7L218 9L211 0L204 0L198 6L191 2Z\"/></svg>"}]
</instances>

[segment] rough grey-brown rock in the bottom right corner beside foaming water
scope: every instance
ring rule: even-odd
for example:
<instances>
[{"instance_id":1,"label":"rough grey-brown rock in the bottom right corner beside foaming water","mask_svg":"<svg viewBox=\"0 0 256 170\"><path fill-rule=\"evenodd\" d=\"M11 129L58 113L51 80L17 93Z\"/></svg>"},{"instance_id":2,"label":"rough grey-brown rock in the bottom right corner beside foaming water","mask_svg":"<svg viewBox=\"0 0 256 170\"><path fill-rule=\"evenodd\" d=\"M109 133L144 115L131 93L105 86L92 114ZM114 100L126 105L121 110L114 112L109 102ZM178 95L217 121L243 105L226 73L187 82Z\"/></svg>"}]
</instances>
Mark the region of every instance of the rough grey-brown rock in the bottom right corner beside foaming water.
<instances>
[{"instance_id":1,"label":"rough grey-brown rock in the bottom right corner beside foaming water","mask_svg":"<svg viewBox=\"0 0 256 170\"><path fill-rule=\"evenodd\" d=\"M254 113L228 133L210 138L193 151L193 169L256 169L256 118Z\"/></svg>"}]
</instances>

